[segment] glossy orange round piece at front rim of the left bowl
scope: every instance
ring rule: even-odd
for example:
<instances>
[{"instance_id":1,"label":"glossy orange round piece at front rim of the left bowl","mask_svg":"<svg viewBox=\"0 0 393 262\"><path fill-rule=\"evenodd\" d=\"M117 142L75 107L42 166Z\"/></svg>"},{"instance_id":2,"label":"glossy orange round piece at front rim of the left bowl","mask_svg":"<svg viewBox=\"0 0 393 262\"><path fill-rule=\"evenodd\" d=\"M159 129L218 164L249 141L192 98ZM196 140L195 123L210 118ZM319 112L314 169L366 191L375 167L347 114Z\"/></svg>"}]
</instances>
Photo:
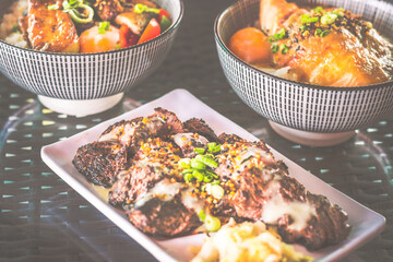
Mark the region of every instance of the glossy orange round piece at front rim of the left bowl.
<instances>
[{"instance_id":1,"label":"glossy orange round piece at front rim of the left bowl","mask_svg":"<svg viewBox=\"0 0 393 262\"><path fill-rule=\"evenodd\" d=\"M119 43L119 29L115 26L104 33L98 33L98 26L93 26L80 36L81 52L103 52L115 50Z\"/></svg>"}]
</instances>

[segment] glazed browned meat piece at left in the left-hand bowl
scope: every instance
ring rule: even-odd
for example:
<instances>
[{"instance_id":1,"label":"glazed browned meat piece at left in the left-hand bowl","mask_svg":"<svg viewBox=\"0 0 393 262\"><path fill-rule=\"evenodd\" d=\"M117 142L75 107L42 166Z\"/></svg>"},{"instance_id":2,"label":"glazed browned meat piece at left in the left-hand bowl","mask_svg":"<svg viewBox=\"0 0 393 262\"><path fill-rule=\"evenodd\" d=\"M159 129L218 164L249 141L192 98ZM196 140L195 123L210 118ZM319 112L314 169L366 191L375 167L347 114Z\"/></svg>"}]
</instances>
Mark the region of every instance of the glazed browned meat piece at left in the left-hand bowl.
<instances>
[{"instance_id":1,"label":"glazed browned meat piece at left in the left-hand bowl","mask_svg":"<svg viewBox=\"0 0 393 262\"><path fill-rule=\"evenodd\" d=\"M51 52L79 52L80 43L71 16L62 10L49 10L52 0L28 0L27 37L32 49ZM62 1L56 3L61 7Z\"/></svg>"}]
</instances>

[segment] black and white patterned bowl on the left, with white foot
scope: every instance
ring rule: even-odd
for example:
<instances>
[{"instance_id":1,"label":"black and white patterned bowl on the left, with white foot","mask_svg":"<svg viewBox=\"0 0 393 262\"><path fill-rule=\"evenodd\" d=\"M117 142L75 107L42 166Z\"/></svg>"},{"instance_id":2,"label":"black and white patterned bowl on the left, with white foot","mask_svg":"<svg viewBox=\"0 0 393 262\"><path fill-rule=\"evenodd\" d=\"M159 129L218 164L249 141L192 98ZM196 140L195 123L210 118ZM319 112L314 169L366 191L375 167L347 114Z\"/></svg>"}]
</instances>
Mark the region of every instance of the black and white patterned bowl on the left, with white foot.
<instances>
[{"instance_id":1,"label":"black and white patterned bowl on the left, with white foot","mask_svg":"<svg viewBox=\"0 0 393 262\"><path fill-rule=\"evenodd\" d=\"M8 10L12 2L1 0L0 10ZM172 45L183 15L182 0L155 2L168 10L172 25L150 41L115 51L66 55L24 49L0 40L0 71L56 111L104 111L153 73Z\"/></svg>"}]
</instances>

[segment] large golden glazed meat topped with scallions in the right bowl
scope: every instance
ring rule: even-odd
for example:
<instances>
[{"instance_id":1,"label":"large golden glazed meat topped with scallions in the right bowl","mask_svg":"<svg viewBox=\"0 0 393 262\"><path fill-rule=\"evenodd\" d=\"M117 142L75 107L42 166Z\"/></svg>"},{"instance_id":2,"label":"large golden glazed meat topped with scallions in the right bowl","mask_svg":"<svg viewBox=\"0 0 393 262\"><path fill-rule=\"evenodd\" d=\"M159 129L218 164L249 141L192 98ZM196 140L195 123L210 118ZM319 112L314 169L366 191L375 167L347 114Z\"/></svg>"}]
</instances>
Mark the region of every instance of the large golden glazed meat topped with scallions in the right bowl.
<instances>
[{"instance_id":1,"label":"large golden glazed meat topped with scallions in the right bowl","mask_svg":"<svg viewBox=\"0 0 393 262\"><path fill-rule=\"evenodd\" d=\"M309 11L285 0L261 0L260 22L270 36L286 29L276 44L288 49L275 52L274 63L289 67L301 82L360 86L392 80L393 45L349 11Z\"/></svg>"}]
</instances>

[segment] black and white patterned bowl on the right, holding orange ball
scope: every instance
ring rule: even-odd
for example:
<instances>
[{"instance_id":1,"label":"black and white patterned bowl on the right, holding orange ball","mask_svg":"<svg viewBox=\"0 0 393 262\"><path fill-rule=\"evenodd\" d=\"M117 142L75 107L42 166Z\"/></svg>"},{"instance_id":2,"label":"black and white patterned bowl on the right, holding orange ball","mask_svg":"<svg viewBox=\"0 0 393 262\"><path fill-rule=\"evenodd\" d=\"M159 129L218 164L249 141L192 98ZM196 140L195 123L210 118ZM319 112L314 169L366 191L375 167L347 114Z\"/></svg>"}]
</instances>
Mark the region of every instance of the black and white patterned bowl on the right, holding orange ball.
<instances>
[{"instance_id":1,"label":"black and white patterned bowl on the right, holding orange ball","mask_svg":"<svg viewBox=\"0 0 393 262\"><path fill-rule=\"evenodd\" d=\"M297 0L298 4L341 7L371 21L393 36L393 4L378 0ZM325 87L284 80L237 58L226 46L238 29L253 25L260 0L240 0L222 12L214 25L224 73L238 96L267 118L285 138L309 145L330 145L350 138L393 112L393 82L359 87ZM323 141L325 140L325 141Z\"/></svg>"}]
</instances>

